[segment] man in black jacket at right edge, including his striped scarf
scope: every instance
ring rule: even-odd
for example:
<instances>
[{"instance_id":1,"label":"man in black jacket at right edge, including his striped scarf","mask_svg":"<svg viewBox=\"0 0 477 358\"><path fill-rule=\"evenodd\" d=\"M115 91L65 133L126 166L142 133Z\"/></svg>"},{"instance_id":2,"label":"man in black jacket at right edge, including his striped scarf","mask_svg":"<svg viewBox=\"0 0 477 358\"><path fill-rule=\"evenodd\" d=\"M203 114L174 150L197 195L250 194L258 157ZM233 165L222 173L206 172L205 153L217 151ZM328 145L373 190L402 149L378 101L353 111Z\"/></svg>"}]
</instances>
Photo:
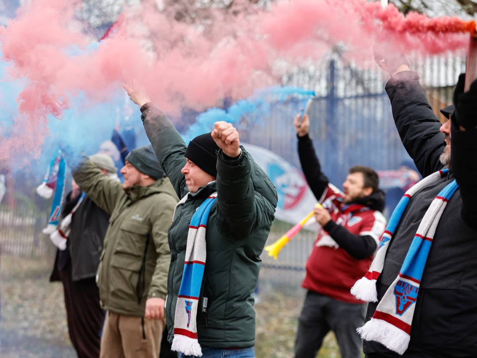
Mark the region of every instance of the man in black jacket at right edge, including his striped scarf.
<instances>
[{"instance_id":1,"label":"man in black jacket at right edge, including his striped scarf","mask_svg":"<svg viewBox=\"0 0 477 358\"><path fill-rule=\"evenodd\" d=\"M391 76L386 91L397 131L424 179L399 202L394 226L356 283L370 301L360 328L364 353L476 357L477 81L464 93L459 77L451 119L441 123L396 44L378 42L375 59Z\"/></svg>"}]
</instances>

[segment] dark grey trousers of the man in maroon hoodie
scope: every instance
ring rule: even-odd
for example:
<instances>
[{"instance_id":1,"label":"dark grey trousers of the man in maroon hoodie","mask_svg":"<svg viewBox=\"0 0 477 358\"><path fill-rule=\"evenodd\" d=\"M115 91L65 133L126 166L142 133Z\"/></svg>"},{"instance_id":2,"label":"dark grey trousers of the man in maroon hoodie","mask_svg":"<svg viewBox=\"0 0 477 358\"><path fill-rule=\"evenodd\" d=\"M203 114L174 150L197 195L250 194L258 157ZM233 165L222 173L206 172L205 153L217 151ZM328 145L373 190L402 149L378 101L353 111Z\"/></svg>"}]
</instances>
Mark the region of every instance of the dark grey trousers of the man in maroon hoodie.
<instances>
[{"instance_id":1,"label":"dark grey trousers of the man in maroon hoodie","mask_svg":"<svg viewBox=\"0 0 477 358\"><path fill-rule=\"evenodd\" d=\"M338 341L342 358L361 358L361 338L356 328L364 324L365 304L337 301L308 291L298 320L296 358L316 358L329 331Z\"/></svg>"}]
</instances>

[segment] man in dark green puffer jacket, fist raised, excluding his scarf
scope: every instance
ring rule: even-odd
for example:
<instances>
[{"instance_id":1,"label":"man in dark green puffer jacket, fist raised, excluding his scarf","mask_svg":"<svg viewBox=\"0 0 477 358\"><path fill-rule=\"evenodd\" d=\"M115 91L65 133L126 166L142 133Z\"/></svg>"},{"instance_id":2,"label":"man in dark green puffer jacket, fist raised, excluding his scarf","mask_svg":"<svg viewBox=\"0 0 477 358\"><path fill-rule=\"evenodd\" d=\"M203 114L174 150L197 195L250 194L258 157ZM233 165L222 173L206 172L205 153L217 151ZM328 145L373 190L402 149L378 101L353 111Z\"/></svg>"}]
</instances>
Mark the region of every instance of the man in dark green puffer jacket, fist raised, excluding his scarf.
<instances>
[{"instance_id":1,"label":"man in dark green puffer jacket, fist raised, excluding his scarf","mask_svg":"<svg viewBox=\"0 0 477 358\"><path fill-rule=\"evenodd\" d=\"M202 357L225 350L228 352L222 354L231 358L254 357L255 311L251 293L274 219L275 187L239 146L239 133L232 124L217 122L214 132L194 138L186 148L170 120L150 103L144 90L127 85L125 89L141 106L146 133L177 195L187 195L176 209L168 235L168 340L172 342L174 336L190 220L202 202L217 191L207 222L207 259L197 313L198 341ZM179 357L186 356L179 353Z\"/></svg>"}]
</instances>

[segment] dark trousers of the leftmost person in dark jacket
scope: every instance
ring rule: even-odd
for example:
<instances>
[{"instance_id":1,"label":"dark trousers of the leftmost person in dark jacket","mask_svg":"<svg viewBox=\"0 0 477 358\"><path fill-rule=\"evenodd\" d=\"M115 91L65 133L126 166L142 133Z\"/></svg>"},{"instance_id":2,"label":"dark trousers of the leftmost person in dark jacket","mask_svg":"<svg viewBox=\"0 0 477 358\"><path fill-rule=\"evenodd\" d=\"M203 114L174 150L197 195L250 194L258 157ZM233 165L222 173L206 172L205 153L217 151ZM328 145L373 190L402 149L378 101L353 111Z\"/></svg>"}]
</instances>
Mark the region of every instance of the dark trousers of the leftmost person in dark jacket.
<instances>
[{"instance_id":1,"label":"dark trousers of the leftmost person in dark jacket","mask_svg":"<svg viewBox=\"0 0 477 358\"><path fill-rule=\"evenodd\" d=\"M70 339L79 358L98 358L104 311L99 305L99 289L93 277L73 282L71 261L59 271L65 292Z\"/></svg>"}]
</instances>

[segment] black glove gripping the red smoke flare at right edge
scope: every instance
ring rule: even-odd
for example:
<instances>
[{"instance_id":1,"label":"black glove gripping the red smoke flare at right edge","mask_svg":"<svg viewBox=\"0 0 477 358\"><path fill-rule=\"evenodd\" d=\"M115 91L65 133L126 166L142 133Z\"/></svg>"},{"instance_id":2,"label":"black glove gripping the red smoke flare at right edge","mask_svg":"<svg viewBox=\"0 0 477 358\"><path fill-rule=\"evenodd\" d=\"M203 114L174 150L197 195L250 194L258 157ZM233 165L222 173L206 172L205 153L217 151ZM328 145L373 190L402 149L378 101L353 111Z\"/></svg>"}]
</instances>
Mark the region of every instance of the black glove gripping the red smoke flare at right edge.
<instances>
[{"instance_id":1,"label":"black glove gripping the red smoke flare at right edge","mask_svg":"<svg viewBox=\"0 0 477 358\"><path fill-rule=\"evenodd\" d=\"M454 89L456 110L452 120L465 129L475 129L477 128L477 80L472 83L469 91L464 93L465 83L466 74L461 74Z\"/></svg>"}]
</instances>

